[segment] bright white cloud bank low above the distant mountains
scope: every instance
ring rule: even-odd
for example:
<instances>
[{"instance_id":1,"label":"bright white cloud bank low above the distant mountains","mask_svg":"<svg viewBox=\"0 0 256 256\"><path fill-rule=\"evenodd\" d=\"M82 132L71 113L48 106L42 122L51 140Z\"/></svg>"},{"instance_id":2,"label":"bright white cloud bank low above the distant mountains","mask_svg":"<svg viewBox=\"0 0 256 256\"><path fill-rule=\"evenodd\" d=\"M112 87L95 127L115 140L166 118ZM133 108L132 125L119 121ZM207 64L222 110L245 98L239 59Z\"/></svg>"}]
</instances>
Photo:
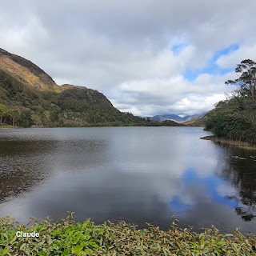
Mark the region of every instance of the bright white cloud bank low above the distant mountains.
<instances>
[{"instance_id":1,"label":"bright white cloud bank low above the distant mountains","mask_svg":"<svg viewBox=\"0 0 256 256\"><path fill-rule=\"evenodd\" d=\"M111 98L114 106L140 116L155 114L194 114L214 108L214 104L226 98L222 92L234 90L223 81L234 74L201 74L193 82L182 76L167 79L134 80L123 83Z\"/></svg>"}]
</instances>

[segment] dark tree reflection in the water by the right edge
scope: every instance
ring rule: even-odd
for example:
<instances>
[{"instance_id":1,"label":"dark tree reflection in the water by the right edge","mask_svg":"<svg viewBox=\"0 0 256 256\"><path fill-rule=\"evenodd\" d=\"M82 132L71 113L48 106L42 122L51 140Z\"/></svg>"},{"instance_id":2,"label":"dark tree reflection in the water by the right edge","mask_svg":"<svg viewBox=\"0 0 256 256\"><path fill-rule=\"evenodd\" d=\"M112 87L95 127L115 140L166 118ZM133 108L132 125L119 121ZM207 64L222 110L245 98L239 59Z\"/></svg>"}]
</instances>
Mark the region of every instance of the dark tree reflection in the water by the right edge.
<instances>
[{"instance_id":1,"label":"dark tree reflection in the water by the right edge","mask_svg":"<svg viewBox=\"0 0 256 256\"><path fill-rule=\"evenodd\" d=\"M242 150L234 152L247 159L230 158L221 176L238 190L237 195L229 198L239 202L240 206L236 207L235 211L244 221L248 222L256 217L256 162Z\"/></svg>"}]
</instances>

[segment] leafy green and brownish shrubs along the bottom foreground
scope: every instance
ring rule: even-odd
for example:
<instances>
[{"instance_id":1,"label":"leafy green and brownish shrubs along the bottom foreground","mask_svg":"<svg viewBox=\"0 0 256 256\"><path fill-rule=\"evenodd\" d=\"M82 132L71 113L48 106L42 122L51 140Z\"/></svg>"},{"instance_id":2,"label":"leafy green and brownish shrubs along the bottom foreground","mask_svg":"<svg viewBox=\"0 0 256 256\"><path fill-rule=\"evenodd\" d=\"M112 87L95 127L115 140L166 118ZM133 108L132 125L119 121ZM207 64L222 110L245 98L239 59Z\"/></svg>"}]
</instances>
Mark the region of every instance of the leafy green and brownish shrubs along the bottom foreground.
<instances>
[{"instance_id":1,"label":"leafy green and brownish shrubs along the bottom foreground","mask_svg":"<svg viewBox=\"0 0 256 256\"><path fill-rule=\"evenodd\" d=\"M19 231L38 232L39 238L18 238ZM214 227L203 233L156 226L137 230L119 222L94 225L87 220L75 223L72 215L58 222L44 220L32 226L0 218L0 255L255 255L256 237L240 232L219 234Z\"/></svg>"}]
</instances>

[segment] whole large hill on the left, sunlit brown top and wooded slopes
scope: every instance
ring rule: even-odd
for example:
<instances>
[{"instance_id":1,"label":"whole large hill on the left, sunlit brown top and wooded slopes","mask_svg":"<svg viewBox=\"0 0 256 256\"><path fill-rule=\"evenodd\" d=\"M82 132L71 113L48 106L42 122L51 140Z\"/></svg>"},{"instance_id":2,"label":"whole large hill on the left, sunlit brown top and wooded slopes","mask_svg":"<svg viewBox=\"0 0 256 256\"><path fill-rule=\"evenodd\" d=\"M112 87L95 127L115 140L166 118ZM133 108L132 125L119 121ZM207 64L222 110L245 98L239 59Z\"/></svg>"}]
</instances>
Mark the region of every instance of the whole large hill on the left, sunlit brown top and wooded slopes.
<instances>
[{"instance_id":1,"label":"whole large hill on the left, sunlit brown top and wooded slopes","mask_svg":"<svg viewBox=\"0 0 256 256\"><path fill-rule=\"evenodd\" d=\"M84 86L58 86L49 74L0 49L0 125L180 126L122 113L105 95Z\"/></svg>"}]
</instances>

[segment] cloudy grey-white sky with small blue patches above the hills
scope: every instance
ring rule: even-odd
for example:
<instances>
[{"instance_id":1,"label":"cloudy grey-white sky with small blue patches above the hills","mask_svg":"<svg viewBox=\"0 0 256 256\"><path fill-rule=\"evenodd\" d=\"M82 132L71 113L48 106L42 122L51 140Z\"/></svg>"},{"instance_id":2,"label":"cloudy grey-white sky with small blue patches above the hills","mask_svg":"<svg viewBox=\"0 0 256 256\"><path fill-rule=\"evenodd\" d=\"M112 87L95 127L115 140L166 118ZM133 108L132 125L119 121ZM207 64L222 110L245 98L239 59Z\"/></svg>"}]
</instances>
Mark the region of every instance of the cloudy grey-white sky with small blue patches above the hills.
<instances>
[{"instance_id":1,"label":"cloudy grey-white sky with small blue patches above the hills","mask_svg":"<svg viewBox=\"0 0 256 256\"><path fill-rule=\"evenodd\" d=\"M211 110L256 61L254 0L0 2L0 48L139 116Z\"/></svg>"}]
</instances>

